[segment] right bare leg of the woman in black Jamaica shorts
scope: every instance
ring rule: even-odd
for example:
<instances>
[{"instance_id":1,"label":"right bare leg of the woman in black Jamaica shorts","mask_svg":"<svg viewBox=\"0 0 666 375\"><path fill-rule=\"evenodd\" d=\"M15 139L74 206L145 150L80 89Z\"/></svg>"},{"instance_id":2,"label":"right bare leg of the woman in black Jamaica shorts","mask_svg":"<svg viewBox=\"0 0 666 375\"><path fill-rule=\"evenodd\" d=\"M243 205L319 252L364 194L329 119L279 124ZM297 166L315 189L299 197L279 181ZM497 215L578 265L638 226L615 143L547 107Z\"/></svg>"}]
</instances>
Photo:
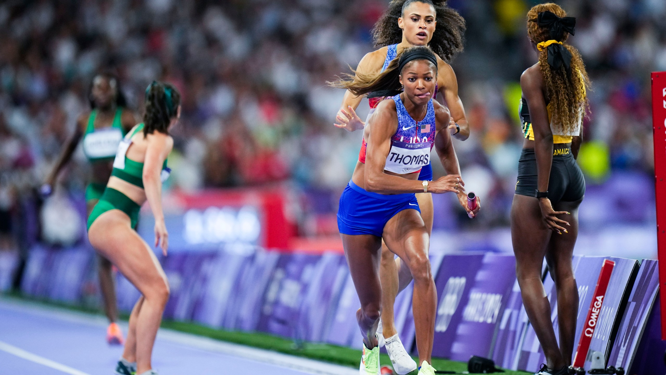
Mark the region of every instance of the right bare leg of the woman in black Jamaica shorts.
<instances>
[{"instance_id":1,"label":"right bare leg of the woman in black Jamaica shorts","mask_svg":"<svg viewBox=\"0 0 666 375\"><path fill-rule=\"evenodd\" d=\"M578 287L573 276L571 257L578 236L578 206L581 202L582 200L558 202L553 205L555 211L566 211L571 215L559 216L561 220L569 223L569 226L566 227L568 233L551 236L545 254L549 273L557 290L559 351L567 366L571 364L578 315Z\"/></svg>"}]
</instances>

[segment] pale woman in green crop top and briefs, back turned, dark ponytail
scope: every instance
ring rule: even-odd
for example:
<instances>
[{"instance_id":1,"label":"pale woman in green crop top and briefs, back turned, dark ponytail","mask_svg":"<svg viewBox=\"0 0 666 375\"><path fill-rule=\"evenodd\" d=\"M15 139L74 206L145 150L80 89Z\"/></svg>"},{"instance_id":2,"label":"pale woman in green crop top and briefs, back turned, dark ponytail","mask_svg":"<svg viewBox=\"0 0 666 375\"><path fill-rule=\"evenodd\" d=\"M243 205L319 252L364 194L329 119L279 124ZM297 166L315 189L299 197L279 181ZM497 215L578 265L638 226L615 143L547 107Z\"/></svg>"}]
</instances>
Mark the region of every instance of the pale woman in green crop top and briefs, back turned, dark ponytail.
<instances>
[{"instance_id":1,"label":"pale woman in green crop top and briefs, back turned, dark ponytail","mask_svg":"<svg viewBox=\"0 0 666 375\"><path fill-rule=\"evenodd\" d=\"M109 183L88 218L90 243L141 292L129 317L125 350L116 367L118 375L157 374L151 356L169 288L151 246L134 228L141 205L148 201L155 216L155 246L161 246L166 256L162 182L170 171L166 156L173 147L168 132L178 117L178 91L168 83L151 83L146 89L143 123L127 133L118 146Z\"/></svg>"}]
</instances>

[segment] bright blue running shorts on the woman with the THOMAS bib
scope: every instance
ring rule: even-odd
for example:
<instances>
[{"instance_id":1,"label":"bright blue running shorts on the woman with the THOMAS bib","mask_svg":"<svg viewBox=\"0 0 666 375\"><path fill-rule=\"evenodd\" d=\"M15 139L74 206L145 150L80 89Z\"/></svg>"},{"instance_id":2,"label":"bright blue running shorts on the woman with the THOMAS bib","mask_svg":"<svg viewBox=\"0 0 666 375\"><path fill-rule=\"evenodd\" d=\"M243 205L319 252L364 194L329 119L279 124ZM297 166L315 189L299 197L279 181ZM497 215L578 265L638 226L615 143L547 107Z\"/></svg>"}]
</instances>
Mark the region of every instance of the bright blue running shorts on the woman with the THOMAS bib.
<instances>
[{"instance_id":1,"label":"bright blue running shorts on the woman with the THOMAS bib","mask_svg":"<svg viewBox=\"0 0 666 375\"><path fill-rule=\"evenodd\" d=\"M417 210L418 201L414 193L378 194L367 192L353 181L349 181L340 196L338 208L338 230L342 234L372 234L382 237L386 223L402 210Z\"/></svg>"}]
</instances>

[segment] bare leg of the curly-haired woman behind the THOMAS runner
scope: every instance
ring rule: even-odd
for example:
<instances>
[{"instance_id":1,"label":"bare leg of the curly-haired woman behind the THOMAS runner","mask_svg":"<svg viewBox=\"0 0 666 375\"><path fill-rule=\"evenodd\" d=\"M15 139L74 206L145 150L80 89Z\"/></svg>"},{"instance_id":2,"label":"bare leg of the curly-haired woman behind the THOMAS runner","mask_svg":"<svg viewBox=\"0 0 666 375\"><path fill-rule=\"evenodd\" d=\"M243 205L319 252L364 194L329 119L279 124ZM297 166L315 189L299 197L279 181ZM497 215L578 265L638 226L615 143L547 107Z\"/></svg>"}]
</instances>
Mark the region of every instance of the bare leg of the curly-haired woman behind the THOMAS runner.
<instances>
[{"instance_id":1,"label":"bare leg of the curly-haired woman behind the THOMAS runner","mask_svg":"<svg viewBox=\"0 0 666 375\"><path fill-rule=\"evenodd\" d=\"M423 218L428 234L432 232L432 194L416 194L421 217ZM388 250L386 244L382 242L382 266L380 268L382 278L382 334L390 338L398 332L394 324L393 306L396 302L396 296L412 282L412 273L400 258L395 258L393 252Z\"/></svg>"}]
</instances>

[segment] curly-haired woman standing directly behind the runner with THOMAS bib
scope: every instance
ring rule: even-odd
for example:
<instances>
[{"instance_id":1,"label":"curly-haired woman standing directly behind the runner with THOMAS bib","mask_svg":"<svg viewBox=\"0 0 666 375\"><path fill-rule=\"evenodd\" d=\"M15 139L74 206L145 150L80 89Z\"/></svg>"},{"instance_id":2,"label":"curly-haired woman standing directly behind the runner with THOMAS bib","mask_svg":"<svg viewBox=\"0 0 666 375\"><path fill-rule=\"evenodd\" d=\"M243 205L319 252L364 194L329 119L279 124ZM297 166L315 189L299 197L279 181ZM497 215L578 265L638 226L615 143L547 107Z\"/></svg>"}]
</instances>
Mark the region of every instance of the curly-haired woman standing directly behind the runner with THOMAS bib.
<instances>
[{"instance_id":1,"label":"curly-haired woman standing directly behind the runner with THOMAS bib","mask_svg":"<svg viewBox=\"0 0 666 375\"><path fill-rule=\"evenodd\" d=\"M428 45L438 55L438 79L433 97L444 98L451 113L449 130L451 134L464 141L470 135L469 125L465 116L465 109L458 97L458 81L450 61L454 55L463 49L463 35L465 20L450 7L446 0L394 0L390 3L384 15L375 24L373 35L375 45L384 45L376 51L368 53L358 63L357 71L360 73L377 73L386 69L390 61L396 58L398 52L405 47ZM384 97L378 93L370 93L370 115L374 108ZM348 131L362 129L363 121L355 113L363 96L354 95L346 91L340 111L338 111L337 127ZM362 159L364 155L360 156ZM362 161L362 160L361 160ZM432 166L424 166L418 177L420 180L432 180ZM421 216L426 223L428 233L432 231L433 208L430 193L416 194L421 209ZM380 347L386 344L386 352L393 364L393 369L400 375L407 374L416 369L416 362L407 353L398 332L394 326L394 302L396 295L404 290L412 281L412 276L400 258L394 259L394 254L382 246L382 263L380 276L382 278L382 319L378 336ZM384 338L386 337L386 340Z\"/></svg>"}]
</instances>

